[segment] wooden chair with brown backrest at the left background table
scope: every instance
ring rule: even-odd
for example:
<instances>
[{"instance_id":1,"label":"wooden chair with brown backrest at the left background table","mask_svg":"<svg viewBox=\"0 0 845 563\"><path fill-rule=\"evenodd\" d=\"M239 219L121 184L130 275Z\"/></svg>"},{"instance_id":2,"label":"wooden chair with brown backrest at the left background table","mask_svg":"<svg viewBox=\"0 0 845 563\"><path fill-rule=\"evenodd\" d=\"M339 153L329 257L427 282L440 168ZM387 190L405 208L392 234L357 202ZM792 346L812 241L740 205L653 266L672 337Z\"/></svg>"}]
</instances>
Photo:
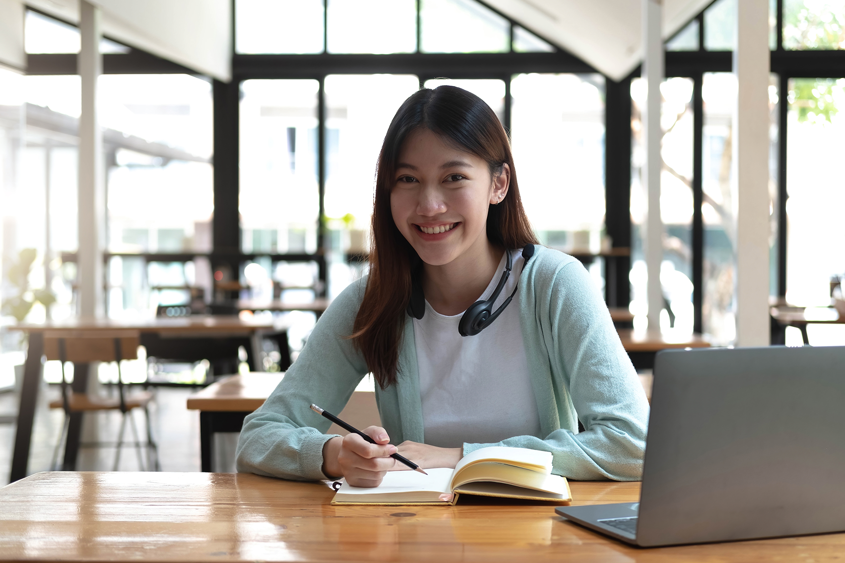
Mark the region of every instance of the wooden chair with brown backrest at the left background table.
<instances>
[{"instance_id":1,"label":"wooden chair with brown backrest at the left background table","mask_svg":"<svg viewBox=\"0 0 845 563\"><path fill-rule=\"evenodd\" d=\"M113 471L117 471L120 463L120 451L124 443L131 444L138 452L138 463L142 471L151 467L160 471L158 450L150 431L150 410L147 408L152 395L149 392L135 393L128 397L123 385L123 373L120 367L121 360L136 360L138 358L138 346L140 335L135 330L114 330L109 332L86 332L79 330L67 331L46 331L44 333L44 354L47 360L59 360L62 363L62 398L50 403L51 409L64 410L64 425L62 434L59 436L56 449L53 452L52 468L56 468L59 447L65 440L70 423L70 415L73 413L85 413L98 410L119 410L123 414L120 423L120 430L117 432L117 443L115 442L93 442L79 444L79 447L104 447L117 446L114 457ZM87 363L92 361L117 362L117 398L98 397L87 393L73 392L65 375L64 364L67 361ZM147 441L139 440L138 428L132 416L133 409L144 409L147 425ZM135 438L134 442L124 442L123 434L126 429L126 421L132 426ZM144 464L141 456L141 447L147 448L147 463Z\"/></svg>"}]
</instances>

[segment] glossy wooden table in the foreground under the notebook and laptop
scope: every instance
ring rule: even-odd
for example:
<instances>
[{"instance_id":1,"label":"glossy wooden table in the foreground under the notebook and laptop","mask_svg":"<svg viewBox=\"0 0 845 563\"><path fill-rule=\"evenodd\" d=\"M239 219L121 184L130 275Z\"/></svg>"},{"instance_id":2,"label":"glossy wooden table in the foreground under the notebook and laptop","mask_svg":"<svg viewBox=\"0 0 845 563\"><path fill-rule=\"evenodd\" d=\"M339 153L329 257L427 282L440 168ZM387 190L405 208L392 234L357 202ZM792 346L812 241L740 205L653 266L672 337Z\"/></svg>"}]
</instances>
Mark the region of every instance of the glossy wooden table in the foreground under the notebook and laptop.
<instances>
[{"instance_id":1,"label":"glossy wooden table in the foreground under the notebook and laptop","mask_svg":"<svg viewBox=\"0 0 845 563\"><path fill-rule=\"evenodd\" d=\"M570 482L572 504L637 501L639 483ZM845 534L640 549L553 505L330 506L324 482L253 474L41 473L0 489L0 560L842 560Z\"/></svg>"}]
</instances>

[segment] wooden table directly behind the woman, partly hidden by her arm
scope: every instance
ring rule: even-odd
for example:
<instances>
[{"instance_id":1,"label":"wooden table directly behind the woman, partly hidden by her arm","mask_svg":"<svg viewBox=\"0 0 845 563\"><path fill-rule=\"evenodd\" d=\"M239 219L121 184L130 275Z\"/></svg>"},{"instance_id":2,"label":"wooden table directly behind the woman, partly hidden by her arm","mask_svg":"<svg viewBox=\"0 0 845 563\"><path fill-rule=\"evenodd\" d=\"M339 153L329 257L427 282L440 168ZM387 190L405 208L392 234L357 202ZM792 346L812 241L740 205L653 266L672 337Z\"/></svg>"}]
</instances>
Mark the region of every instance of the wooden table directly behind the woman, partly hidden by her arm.
<instances>
[{"instance_id":1,"label":"wooden table directly behind the woman, partly hidden by her arm","mask_svg":"<svg viewBox=\"0 0 845 563\"><path fill-rule=\"evenodd\" d=\"M211 471L215 432L240 432L243 419L264 404L284 376L284 373L266 372L228 376L188 397L188 409L199 410L202 471ZM338 416L361 429L381 424L374 392L353 392ZM327 433L346 436L346 430L337 425L331 425Z\"/></svg>"}]
</instances>

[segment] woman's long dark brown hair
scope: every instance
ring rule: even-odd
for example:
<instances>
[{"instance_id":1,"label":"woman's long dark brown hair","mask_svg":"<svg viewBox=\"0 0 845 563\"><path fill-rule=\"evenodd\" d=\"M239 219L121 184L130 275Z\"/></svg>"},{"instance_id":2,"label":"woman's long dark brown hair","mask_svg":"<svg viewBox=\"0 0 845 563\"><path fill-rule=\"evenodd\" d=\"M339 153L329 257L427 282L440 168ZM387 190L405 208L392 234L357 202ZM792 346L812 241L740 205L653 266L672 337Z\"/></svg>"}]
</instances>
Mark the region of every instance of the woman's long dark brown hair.
<instances>
[{"instance_id":1,"label":"woman's long dark brown hair","mask_svg":"<svg viewBox=\"0 0 845 563\"><path fill-rule=\"evenodd\" d=\"M510 188L502 202L488 209L488 240L503 249L537 243L522 208L508 136L490 106L455 86L421 89L405 100L390 122L379 154L369 278L351 337L382 389L396 382L411 280L422 275L423 261L396 227L390 212L390 192L402 143L421 128L485 160L493 177L507 164Z\"/></svg>"}]
</instances>

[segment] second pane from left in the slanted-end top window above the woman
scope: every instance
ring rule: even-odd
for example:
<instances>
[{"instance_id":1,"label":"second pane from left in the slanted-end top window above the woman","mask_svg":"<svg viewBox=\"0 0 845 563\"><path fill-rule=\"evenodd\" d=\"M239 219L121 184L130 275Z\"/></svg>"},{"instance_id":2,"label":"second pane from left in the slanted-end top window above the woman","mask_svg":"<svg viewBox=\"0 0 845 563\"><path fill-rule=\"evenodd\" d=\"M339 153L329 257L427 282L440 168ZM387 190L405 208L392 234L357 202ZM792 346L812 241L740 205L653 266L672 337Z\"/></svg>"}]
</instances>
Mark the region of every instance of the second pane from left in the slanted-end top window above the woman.
<instances>
[{"instance_id":1,"label":"second pane from left in the slanted-end top window above the woman","mask_svg":"<svg viewBox=\"0 0 845 563\"><path fill-rule=\"evenodd\" d=\"M332 53L417 51L414 0L329 0L328 27Z\"/></svg>"}]
</instances>

